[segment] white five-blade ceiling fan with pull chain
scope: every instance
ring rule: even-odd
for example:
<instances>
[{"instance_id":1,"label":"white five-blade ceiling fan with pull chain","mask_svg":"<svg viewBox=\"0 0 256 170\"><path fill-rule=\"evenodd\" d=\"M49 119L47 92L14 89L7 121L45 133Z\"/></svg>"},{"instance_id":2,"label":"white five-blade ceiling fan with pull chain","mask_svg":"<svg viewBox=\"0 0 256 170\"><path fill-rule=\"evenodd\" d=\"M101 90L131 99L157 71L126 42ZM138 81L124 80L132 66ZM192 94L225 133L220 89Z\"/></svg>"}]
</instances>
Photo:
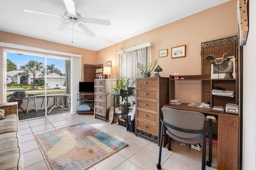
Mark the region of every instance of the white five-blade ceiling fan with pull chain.
<instances>
[{"instance_id":1,"label":"white five-blade ceiling fan with pull chain","mask_svg":"<svg viewBox=\"0 0 256 170\"><path fill-rule=\"evenodd\" d=\"M62 25L60 25L60 27L58 27L54 31L54 33L61 33L70 24L72 25L77 24L78 27L80 27L90 37L96 37L96 35L88 27L86 27L83 23L80 23L80 22L96 23L101 25L111 25L109 20L101 20L101 19L95 19L95 18L82 18L82 16L78 12L76 12L76 8L73 0L63 0L63 1L67 8L67 11L64 13L64 16L60 16L58 14L51 14L47 12L28 10L28 9L24 9L23 11L34 13L34 14L42 14L42 15L48 15L48 16L53 16L58 18L64 18L65 20L63 21ZM68 20L68 22L66 20Z\"/></svg>"}]
</instances>

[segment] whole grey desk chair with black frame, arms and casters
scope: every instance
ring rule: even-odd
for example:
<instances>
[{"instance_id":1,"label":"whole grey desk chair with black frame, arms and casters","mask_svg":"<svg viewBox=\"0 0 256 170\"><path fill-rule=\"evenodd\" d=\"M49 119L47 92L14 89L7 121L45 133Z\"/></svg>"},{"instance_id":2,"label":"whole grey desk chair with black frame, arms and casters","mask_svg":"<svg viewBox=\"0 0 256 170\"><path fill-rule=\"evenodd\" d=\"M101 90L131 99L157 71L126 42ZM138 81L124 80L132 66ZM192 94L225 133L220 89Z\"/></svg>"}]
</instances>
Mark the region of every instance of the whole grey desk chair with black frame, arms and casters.
<instances>
[{"instance_id":1,"label":"whole grey desk chair with black frame, arms and casters","mask_svg":"<svg viewBox=\"0 0 256 170\"><path fill-rule=\"evenodd\" d=\"M203 130L205 116L196 111L173 109L162 107L160 149L157 169L161 169L161 154L163 137L168 136L168 150L171 150L171 140L175 139L182 143L196 145L202 143L202 170L212 165L212 119L208 121L208 129ZM163 135L164 125L166 135ZM209 160L206 161L206 135L209 134ZM200 145L201 146L201 145Z\"/></svg>"}]
</instances>

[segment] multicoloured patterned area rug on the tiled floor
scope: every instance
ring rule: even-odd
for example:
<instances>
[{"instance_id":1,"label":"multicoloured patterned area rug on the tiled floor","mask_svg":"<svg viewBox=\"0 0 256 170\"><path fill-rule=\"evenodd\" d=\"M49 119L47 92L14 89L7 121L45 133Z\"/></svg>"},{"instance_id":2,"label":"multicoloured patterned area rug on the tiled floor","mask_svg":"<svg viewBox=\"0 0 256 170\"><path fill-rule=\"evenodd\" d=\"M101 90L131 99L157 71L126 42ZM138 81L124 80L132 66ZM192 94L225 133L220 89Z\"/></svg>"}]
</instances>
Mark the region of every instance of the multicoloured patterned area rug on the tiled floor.
<instances>
[{"instance_id":1,"label":"multicoloured patterned area rug on the tiled floor","mask_svg":"<svg viewBox=\"0 0 256 170\"><path fill-rule=\"evenodd\" d=\"M52 169L84 170L128 146L86 123L36 135Z\"/></svg>"}]
</instances>

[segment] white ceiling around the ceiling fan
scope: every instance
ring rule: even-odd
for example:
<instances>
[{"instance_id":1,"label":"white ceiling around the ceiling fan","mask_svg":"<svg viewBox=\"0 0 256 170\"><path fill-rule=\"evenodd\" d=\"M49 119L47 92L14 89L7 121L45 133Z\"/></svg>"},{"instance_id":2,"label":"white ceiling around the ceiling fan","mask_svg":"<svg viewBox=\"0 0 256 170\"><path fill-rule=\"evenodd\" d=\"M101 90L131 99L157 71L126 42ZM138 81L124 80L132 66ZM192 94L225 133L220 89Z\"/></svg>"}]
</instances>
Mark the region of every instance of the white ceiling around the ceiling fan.
<instances>
[{"instance_id":1,"label":"white ceiling around the ceiling fan","mask_svg":"<svg viewBox=\"0 0 256 170\"><path fill-rule=\"evenodd\" d=\"M111 25L84 23L97 37L77 25L54 31L64 19L32 14L23 9L64 16L63 0L0 0L0 30L98 51L162 25L229 0L73 0L82 18L110 20ZM217 12L217 11L216 11Z\"/></svg>"}]
</instances>

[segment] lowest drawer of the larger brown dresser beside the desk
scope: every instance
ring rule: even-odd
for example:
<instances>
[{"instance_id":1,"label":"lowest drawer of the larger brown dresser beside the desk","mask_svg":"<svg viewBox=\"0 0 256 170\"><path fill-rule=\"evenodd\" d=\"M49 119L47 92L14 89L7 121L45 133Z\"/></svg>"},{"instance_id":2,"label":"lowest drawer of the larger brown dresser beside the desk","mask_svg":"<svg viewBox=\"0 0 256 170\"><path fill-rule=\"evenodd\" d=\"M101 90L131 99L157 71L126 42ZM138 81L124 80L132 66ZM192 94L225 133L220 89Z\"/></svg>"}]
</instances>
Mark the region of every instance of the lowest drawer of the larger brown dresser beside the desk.
<instances>
[{"instance_id":1,"label":"lowest drawer of the larger brown dresser beside the desk","mask_svg":"<svg viewBox=\"0 0 256 170\"><path fill-rule=\"evenodd\" d=\"M136 128L142 131L146 131L148 133L152 133L154 135L158 135L158 125L155 125L153 123L148 123L146 121L136 119Z\"/></svg>"}]
</instances>

